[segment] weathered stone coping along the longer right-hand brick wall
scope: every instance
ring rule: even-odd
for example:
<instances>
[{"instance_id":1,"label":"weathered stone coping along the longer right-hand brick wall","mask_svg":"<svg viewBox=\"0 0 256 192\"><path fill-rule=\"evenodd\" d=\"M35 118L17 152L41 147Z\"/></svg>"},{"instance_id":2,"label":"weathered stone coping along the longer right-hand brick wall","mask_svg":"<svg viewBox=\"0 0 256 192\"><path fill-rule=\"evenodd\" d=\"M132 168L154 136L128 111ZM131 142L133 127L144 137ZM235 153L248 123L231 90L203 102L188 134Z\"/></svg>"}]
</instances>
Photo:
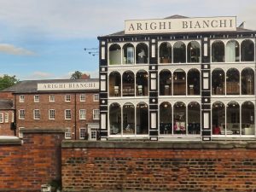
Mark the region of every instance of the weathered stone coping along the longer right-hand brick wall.
<instances>
[{"instance_id":1,"label":"weathered stone coping along the longer right-hand brick wall","mask_svg":"<svg viewBox=\"0 0 256 192\"><path fill-rule=\"evenodd\" d=\"M180 142L139 142L139 141L75 141L63 140L62 148L172 148L172 149L231 149L256 148L256 141L180 141Z\"/></svg>"}]
</instances>

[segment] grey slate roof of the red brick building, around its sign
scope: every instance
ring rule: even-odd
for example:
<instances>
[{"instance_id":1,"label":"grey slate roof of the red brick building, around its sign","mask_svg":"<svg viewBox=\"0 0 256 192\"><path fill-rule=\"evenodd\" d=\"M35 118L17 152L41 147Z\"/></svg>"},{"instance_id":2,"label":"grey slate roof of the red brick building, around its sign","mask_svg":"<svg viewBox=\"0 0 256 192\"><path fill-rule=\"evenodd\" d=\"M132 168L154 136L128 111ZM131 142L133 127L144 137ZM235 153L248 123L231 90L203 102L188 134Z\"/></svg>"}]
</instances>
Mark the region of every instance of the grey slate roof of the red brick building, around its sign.
<instances>
[{"instance_id":1,"label":"grey slate roof of the red brick building, around its sign","mask_svg":"<svg viewBox=\"0 0 256 192\"><path fill-rule=\"evenodd\" d=\"M14 93L35 93L38 91L38 84L55 84L55 83L93 83L98 82L99 79L47 79L47 80L25 80L2 90L3 92ZM55 90L53 92L73 92L78 90ZM82 91L82 90L80 90ZM45 92L45 91L44 91Z\"/></svg>"}]
</instances>

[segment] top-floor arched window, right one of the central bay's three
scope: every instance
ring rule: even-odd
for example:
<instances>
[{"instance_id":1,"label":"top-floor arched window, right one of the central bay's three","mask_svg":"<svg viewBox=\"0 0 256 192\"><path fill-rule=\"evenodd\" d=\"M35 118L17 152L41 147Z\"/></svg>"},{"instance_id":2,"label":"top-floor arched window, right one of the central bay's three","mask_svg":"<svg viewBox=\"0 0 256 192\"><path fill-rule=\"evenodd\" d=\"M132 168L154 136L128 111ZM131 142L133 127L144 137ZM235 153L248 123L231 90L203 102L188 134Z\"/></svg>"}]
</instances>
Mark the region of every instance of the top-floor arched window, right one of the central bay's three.
<instances>
[{"instance_id":1,"label":"top-floor arched window, right one of the central bay's three","mask_svg":"<svg viewBox=\"0 0 256 192\"><path fill-rule=\"evenodd\" d=\"M196 41L192 41L188 44L187 49L188 62L200 61L200 44Z\"/></svg>"}]
</instances>

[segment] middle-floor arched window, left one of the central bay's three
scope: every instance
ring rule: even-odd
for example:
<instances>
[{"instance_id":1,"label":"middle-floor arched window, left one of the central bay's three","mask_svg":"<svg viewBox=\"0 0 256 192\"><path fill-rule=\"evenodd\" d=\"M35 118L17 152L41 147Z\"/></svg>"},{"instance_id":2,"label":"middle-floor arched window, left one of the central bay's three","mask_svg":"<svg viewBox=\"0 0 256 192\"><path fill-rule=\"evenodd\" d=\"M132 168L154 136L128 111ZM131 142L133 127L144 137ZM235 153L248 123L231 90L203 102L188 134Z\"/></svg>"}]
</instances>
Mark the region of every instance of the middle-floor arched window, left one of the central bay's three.
<instances>
[{"instance_id":1,"label":"middle-floor arched window, left one of the central bay's three","mask_svg":"<svg viewBox=\"0 0 256 192\"><path fill-rule=\"evenodd\" d=\"M160 78L160 96L172 96L172 73L169 70L162 70Z\"/></svg>"}]
</instances>

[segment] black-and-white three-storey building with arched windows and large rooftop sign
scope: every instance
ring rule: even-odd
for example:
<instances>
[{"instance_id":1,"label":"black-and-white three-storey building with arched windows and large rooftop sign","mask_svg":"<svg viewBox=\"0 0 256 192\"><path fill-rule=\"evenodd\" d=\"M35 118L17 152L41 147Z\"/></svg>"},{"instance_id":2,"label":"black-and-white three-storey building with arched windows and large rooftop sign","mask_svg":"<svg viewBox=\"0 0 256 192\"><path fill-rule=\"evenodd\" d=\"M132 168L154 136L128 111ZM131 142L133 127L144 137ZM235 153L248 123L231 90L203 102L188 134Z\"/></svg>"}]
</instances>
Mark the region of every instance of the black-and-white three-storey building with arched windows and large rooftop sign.
<instances>
[{"instance_id":1,"label":"black-and-white three-storey building with arched windows and large rooftop sign","mask_svg":"<svg viewBox=\"0 0 256 192\"><path fill-rule=\"evenodd\" d=\"M179 15L99 37L101 139L256 138L255 37Z\"/></svg>"}]
</instances>

